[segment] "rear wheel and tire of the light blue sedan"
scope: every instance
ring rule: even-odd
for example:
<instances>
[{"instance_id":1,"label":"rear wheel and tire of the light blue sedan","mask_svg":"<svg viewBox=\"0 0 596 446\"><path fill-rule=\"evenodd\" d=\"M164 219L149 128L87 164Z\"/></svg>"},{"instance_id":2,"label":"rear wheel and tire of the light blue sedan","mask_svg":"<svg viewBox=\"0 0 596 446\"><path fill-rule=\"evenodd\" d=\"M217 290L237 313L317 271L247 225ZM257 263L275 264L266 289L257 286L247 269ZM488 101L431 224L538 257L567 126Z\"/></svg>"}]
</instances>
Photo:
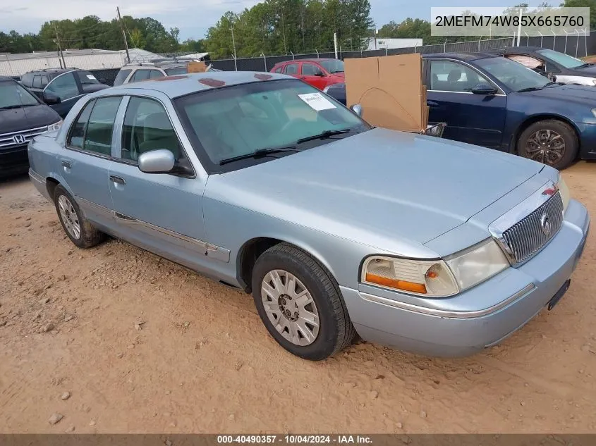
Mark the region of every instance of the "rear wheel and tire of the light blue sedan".
<instances>
[{"instance_id":1,"label":"rear wheel and tire of the light blue sedan","mask_svg":"<svg viewBox=\"0 0 596 446\"><path fill-rule=\"evenodd\" d=\"M75 199L62 185L57 185L54 190L54 206L64 232L79 248L94 247L105 239L104 233L85 218Z\"/></svg>"}]
</instances>

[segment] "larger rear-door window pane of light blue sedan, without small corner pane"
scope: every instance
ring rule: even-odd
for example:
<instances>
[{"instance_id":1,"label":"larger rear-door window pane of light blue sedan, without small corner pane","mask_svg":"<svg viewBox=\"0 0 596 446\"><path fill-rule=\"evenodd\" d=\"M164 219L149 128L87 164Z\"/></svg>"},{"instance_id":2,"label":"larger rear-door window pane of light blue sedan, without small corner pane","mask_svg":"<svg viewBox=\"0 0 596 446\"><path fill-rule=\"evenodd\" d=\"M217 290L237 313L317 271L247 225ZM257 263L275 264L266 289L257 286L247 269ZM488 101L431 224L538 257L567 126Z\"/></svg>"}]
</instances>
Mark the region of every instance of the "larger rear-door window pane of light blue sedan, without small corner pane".
<instances>
[{"instance_id":1,"label":"larger rear-door window pane of light blue sedan, without small corner pane","mask_svg":"<svg viewBox=\"0 0 596 446\"><path fill-rule=\"evenodd\" d=\"M95 100L87 119L83 150L105 156L111 155L111 135L121 99L121 97L103 97Z\"/></svg>"}]
</instances>

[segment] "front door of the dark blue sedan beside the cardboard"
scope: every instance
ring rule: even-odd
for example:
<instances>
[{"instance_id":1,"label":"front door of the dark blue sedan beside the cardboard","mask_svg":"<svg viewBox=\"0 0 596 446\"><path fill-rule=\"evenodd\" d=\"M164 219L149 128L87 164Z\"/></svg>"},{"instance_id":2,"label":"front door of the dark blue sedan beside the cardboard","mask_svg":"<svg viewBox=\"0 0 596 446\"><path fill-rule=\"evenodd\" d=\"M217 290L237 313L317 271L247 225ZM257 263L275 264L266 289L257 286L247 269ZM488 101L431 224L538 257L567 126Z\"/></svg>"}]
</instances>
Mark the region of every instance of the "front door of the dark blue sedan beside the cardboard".
<instances>
[{"instance_id":1,"label":"front door of the dark blue sedan beside the cardboard","mask_svg":"<svg viewBox=\"0 0 596 446\"><path fill-rule=\"evenodd\" d=\"M503 92L473 94L475 85L494 84L464 63L433 59L429 64L429 121L446 123L443 137L448 140L499 148L507 106Z\"/></svg>"}]
</instances>

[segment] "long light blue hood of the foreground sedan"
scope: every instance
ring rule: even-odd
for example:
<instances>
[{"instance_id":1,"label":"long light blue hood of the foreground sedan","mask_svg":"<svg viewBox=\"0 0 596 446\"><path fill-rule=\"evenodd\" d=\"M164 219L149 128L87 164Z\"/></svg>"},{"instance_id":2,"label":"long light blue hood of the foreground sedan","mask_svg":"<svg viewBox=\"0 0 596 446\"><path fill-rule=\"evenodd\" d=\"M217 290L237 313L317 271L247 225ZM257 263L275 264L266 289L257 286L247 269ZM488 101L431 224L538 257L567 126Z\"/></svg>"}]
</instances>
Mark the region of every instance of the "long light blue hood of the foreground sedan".
<instances>
[{"instance_id":1,"label":"long light blue hood of the foreground sedan","mask_svg":"<svg viewBox=\"0 0 596 446\"><path fill-rule=\"evenodd\" d=\"M403 239L423 244L465 223L543 167L377 128L211 175L205 197L389 249Z\"/></svg>"}]
</instances>

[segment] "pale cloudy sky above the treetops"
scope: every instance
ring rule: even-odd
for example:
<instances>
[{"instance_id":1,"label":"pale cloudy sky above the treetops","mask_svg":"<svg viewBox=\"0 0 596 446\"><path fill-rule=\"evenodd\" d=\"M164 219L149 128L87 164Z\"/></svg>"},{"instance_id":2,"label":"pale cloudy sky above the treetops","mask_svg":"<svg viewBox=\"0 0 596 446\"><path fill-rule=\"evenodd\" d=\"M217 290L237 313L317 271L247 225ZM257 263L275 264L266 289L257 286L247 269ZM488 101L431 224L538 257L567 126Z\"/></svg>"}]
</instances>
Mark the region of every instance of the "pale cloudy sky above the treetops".
<instances>
[{"instance_id":1,"label":"pale cloudy sky above the treetops","mask_svg":"<svg viewBox=\"0 0 596 446\"><path fill-rule=\"evenodd\" d=\"M10 4L9 4L10 2ZM423 18L430 20L431 6L509 6L519 1L490 0L370 0L371 16L377 27L394 20ZM123 16L135 18L150 16L164 27L178 27L181 41L205 37L209 26L214 25L226 12L239 13L257 4L257 0L0 0L0 31L39 32L47 20L98 16L102 20L116 17L116 6ZM528 2L533 5L534 2ZM557 3L557 2L554 2Z\"/></svg>"}]
</instances>

